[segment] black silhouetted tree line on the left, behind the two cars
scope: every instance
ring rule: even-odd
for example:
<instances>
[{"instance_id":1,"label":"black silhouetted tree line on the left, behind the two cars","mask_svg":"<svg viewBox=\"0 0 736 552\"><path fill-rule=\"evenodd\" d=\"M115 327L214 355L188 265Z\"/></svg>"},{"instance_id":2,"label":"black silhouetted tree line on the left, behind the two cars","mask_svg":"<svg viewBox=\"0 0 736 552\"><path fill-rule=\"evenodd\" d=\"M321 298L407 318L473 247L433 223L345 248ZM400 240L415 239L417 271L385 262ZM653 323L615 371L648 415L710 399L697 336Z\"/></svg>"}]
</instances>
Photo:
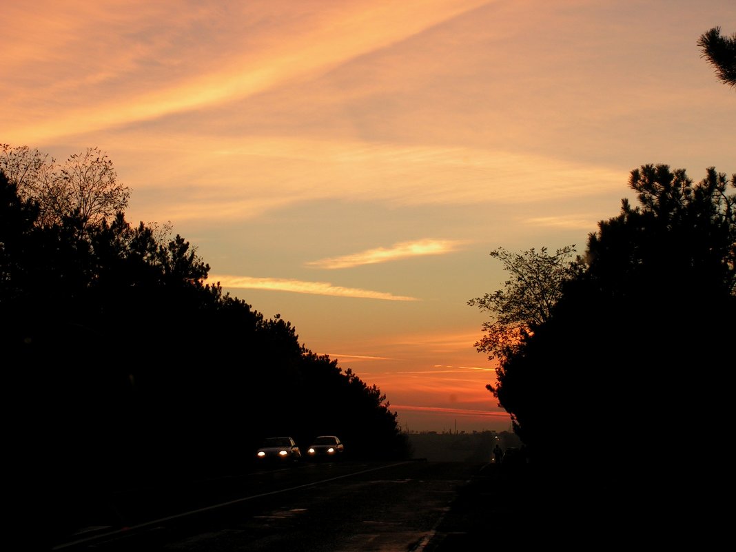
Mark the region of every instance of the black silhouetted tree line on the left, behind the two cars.
<instances>
[{"instance_id":1,"label":"black silhouetted tree line on the left, behind the two cars","mask_svg":"<svg viewBox=\"0 0 736 552\"><path fill-rule=\"evenodd\" d=\"M48 208L0 170L4 448L22 484L63 505L242 473L277 435L406 455L385 394L280 316L205 283L209 266L184 238L121 210Z\"/></svg>"}]
</instances>

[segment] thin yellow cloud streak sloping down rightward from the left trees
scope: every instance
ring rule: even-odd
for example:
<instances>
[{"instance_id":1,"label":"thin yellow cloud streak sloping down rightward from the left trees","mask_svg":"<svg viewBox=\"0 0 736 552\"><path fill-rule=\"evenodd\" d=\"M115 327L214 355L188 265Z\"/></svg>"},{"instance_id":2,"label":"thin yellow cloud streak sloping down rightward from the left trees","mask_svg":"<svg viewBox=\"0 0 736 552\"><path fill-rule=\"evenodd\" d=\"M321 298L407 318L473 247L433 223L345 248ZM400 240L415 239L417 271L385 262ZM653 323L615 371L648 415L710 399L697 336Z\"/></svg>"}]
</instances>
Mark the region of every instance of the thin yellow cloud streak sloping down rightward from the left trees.
<instances>
[{"instance_id":1,"label":"thin yellow cloud streak sloping down rightward from the left trees","mask_svg":"<svg viewBox=\"0 0 736 552\"><path fill-rule=\"evenodd\" d=\"M336 297L357 297L361 299L380 299L385 301L418 301L417 297L393 295L384 291L345 288L333 286L329 282L305 282L283 278L255 278L248 276L210 275L208 280L219 282L223 288L266 289L269 291L291 291L312 295L333 295Z\"/></svg>"}]
</instances>

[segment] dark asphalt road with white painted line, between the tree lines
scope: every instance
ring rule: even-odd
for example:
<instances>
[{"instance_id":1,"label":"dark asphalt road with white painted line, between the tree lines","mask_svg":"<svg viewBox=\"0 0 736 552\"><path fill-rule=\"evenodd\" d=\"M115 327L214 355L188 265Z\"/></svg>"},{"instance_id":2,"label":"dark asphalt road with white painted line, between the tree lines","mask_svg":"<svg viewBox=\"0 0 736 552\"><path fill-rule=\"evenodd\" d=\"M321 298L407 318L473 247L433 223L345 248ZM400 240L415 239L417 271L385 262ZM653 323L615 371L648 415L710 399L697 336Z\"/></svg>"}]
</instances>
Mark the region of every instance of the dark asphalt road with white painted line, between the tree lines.
<instances>
[{"instance_id":1,"label":"dark asphalt road with white painted line, between the tree lines","mask_svg":"<svg viewBox=\"0 0 736 552\"><path fill-rule=\"evenodd\" d=\"M96 520L52 549L456 550L447 546L476 533L456 530L462 516L453 517L453 504L482 473L483 464L463 462L339 462L138 489L101 505ZM483 528L492 523L475 513Z\"/></svg>"}]
</instances>

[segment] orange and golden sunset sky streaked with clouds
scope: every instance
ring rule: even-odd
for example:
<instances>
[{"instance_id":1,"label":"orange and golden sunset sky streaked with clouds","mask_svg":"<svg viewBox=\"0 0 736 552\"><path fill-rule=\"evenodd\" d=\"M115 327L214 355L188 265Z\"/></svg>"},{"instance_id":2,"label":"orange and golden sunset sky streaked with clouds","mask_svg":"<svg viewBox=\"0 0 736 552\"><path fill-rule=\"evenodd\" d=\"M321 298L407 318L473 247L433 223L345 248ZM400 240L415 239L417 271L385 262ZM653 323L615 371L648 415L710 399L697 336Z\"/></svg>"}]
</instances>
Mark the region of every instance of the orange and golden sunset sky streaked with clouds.
<instances>
[{"instance_id":1,"label":"orange and golden sunset sky streaked with clouds","mask_svg":"<svg viewBox=\"0 0 736 552\"><path fill-rule=\"evenodd\" d=\"M467 305L503 286L490 251L583 252L646 163L736 172L697 46L733 0L2 4L0 143L107 152L129 222L170 222L406 431L511 429Z\"/></svg>"}]
</instances>

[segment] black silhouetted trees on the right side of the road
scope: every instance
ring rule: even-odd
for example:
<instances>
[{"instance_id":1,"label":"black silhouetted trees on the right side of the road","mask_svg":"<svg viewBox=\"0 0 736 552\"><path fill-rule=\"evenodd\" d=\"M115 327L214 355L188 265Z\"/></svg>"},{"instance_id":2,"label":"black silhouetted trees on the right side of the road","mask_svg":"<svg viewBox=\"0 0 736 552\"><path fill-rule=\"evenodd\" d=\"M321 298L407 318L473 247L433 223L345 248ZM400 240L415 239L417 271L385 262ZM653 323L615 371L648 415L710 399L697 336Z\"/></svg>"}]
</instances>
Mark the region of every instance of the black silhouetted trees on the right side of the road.
<instances>
[{"instance_id":1,"label":"black silhouetted trees on the right side of the road","mask_svg":"<svg viewBox=\"0 0 736 552\"><path fill-rule=\"evenodd\" d=\"M736 366L736 174L711 168L693 183L682 169L646 165L629 186L639 205L624 199L584 255L565 263L568 247L542 250L545 263L528 262L534 250L507 257L514 278L470 304L495 315L476 346L498 358L488 387L531 462L574 482L582 502L595 499L590 512L615 504L625 509L616 515L631 516L686 508L683 497L723 484ZM539 282L558 293L530 293L544 290ZM531 297L552 295L546 316L528 314ZM498 339L498 321L509 319L524 322L513 346Z\"/></svg>"}]
</instances>

